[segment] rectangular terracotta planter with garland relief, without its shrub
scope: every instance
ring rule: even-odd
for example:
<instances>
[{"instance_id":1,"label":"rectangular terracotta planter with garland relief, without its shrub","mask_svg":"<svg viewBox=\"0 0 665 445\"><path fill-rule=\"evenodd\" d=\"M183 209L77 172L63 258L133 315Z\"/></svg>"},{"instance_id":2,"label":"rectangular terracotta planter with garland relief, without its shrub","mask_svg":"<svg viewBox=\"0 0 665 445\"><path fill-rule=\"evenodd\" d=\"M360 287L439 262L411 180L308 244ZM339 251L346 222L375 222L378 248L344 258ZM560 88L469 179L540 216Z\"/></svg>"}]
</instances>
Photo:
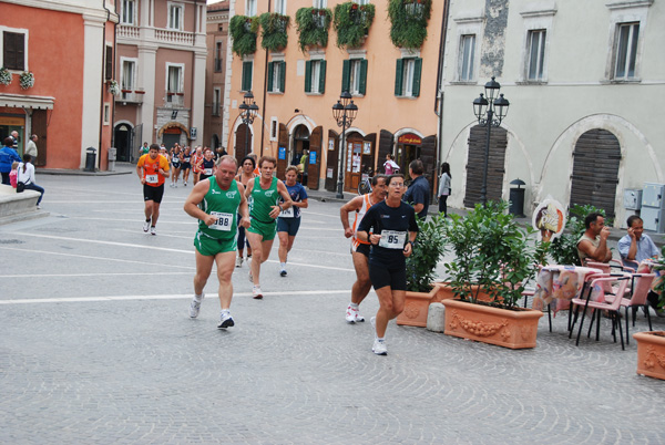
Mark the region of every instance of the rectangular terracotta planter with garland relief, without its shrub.
<instances>
[{"instance_id":1,"label":"rectangular terracotta planter with garland relief, without its shrub","mask_svg":"<svg viewBox=\"0 0 665 445\"><path fill-rule=\"evenodd\" d=\"M460 300L441 302L446 307L447 335L510 349L535 348L541 311L499 309Z\"/></svg>"}]
</instances>

